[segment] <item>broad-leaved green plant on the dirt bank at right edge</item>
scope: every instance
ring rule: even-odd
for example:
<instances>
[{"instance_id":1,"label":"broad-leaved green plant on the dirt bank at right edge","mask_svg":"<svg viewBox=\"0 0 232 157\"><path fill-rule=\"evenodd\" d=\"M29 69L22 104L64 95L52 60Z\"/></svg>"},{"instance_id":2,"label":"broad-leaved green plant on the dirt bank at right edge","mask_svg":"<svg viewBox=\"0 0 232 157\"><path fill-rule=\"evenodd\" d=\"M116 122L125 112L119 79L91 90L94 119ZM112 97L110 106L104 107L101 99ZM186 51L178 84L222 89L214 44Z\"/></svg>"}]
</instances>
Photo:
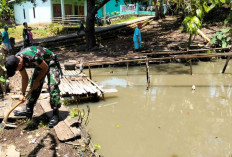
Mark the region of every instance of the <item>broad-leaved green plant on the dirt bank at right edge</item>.
<instances>
[{"instance_id":1,"label":"broad-leaved green plant on the dirt bank at right edge","mask_svg":"<svg viewBox=\"0 0 232 157\"><path fill-rule=\"evenodd\" d=\"M210 40L211 44L216 44L218 47L228 47L231 43L231 38L228 36L230 29L221 29L219 32L216 32L216 35L213 36Z\"/></svg>"}]
</instances>

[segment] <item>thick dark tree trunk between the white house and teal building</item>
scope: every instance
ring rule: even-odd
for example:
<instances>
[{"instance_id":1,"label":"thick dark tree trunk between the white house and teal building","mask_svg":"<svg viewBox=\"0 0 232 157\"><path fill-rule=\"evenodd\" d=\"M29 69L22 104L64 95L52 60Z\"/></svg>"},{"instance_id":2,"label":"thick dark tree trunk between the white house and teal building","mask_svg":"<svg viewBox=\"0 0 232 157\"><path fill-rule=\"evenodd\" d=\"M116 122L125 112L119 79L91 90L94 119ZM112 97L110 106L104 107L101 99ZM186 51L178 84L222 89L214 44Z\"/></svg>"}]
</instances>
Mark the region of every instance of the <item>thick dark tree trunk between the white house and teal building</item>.
<instances>
[{"instance_id":1,"label":"thick dark tree trunk between the white house and teal building","mask_svg":"<svg viewBox=\"0 0 232 157\"><path fill-rule=\"evenodd\" d=\"M91 50L96 46L96 38L95 38L95 1L87 0L87 20L86 20L86 45L87 49Z\"/></svg>"}]
</instances>

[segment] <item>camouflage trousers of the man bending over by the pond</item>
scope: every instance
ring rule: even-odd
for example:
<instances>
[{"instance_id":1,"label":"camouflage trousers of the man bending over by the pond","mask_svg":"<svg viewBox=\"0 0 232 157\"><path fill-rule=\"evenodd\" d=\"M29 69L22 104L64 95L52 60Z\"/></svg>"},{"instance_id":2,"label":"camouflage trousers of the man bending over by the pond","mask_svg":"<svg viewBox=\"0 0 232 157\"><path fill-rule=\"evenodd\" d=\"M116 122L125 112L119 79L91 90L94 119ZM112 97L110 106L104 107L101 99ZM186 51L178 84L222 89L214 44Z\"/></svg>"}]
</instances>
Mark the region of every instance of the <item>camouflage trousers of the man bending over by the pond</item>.
<instances>
[{"instance_id":1,"label":"camouflage trousers of the man bending over by the pond","mask_svg":"<svg viewBox=\"0 0 232 157\"><path fill-rule=\"evenodd\" d=\"M40 70L41 69L38 67L35 68L34 73L33 73L31 80L30 80L31 87L32 87L34 80L39 75ZM50 105L51 105L51 108L55 110L55 109L60 108L60 106L61 106L60 90L58 87L58 85L60 83L60 70L58 69L58 67L56 65L52 65L49 67L46 76L48 78L48 91L50 94ZM27 107L30 107L32 110L33 110L34 105L36 104L36 102L39 98L40 93L41 93L45 77L41 79L39 87L37 89L33 90L32 93L28 97Z\"/></svg>"}]
</instances>

